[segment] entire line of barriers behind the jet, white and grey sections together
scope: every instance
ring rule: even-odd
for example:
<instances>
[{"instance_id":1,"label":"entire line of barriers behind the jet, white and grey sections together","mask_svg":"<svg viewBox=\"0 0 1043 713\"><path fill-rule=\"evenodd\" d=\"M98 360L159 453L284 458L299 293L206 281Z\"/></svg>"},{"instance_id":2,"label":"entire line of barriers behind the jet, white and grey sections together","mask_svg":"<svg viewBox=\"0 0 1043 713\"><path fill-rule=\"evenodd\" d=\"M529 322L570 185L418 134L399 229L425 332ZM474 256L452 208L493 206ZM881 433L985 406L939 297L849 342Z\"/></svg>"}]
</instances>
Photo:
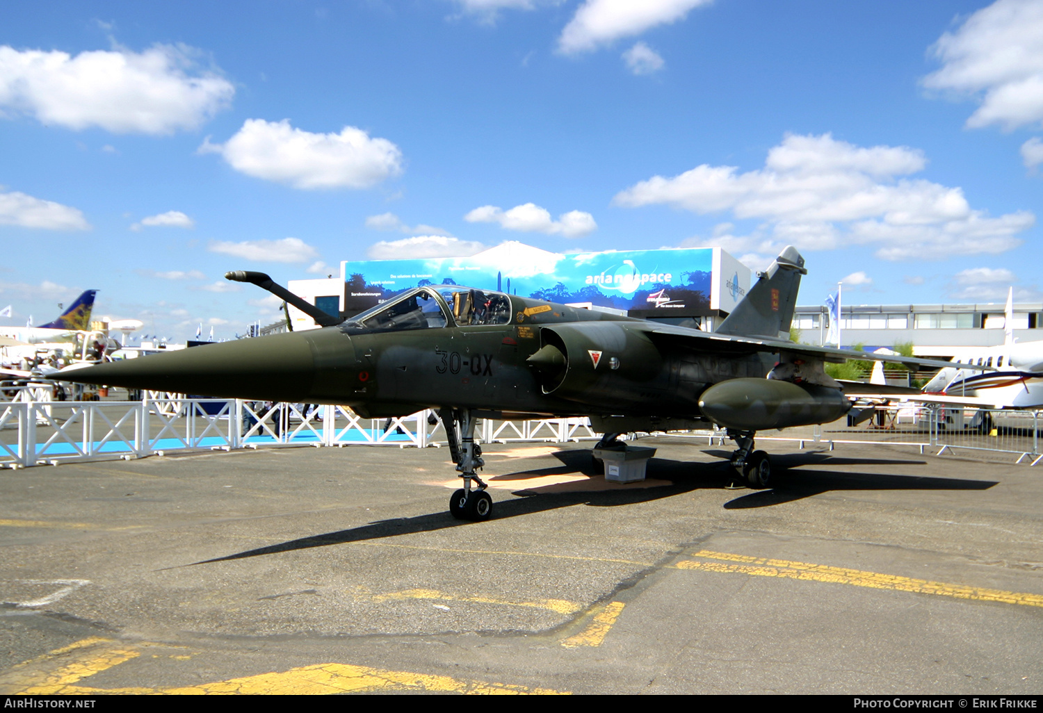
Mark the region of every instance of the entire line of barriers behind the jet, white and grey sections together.
<instances>
[{"instance_id":1,"label":"entire line of barriers behind the jet, white and grey sections together","mask_svg":"<svg viewBox=\"0 0 1043 713\"><path fill-rule=\"evenodd\" d=\"M441 445L445 432L431 411L402 418L363 418L339 405L263 403L146 394L141 401L55 401L47 385L6 389L0 401L0 467L58 464L84 458L140 458L184 448L229 450L273 445ZM150 397L151 396L151 397ZM156 398L155 396L162 396ZM897 404L853 409L825 425L760 433L758 441L798 442L801 448L845 443L915 446L935 456L1037 465L1038 411ZM653 434L655 435L655 434ZM672 433L725 445L723 431ZM482 419L481 442L552 442L600 437L585 418L531 421Z\"/></svg>"}]
</instances>

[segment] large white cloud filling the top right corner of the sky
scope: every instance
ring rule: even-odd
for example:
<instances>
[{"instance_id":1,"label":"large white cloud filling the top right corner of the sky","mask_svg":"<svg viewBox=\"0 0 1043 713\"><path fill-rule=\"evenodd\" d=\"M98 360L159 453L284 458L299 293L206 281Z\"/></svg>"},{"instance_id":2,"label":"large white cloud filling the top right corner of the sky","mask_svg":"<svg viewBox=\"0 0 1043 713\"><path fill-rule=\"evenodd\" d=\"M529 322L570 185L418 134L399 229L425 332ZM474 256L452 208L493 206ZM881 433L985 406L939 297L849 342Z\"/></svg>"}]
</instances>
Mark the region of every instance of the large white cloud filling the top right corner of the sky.
<instances>
[{"instance_id":1,"label":"large white cloud filling the top right corner of the sky","mask_svg":"<svg viewBox=\"0 0 1043 713\"><path fill-rule=\"evenodd\" d=\"M1043 122L1043 2L997 0L931 48L942 67L925 87L972 97L972 128Z\"/></svg>"}]
</instances>

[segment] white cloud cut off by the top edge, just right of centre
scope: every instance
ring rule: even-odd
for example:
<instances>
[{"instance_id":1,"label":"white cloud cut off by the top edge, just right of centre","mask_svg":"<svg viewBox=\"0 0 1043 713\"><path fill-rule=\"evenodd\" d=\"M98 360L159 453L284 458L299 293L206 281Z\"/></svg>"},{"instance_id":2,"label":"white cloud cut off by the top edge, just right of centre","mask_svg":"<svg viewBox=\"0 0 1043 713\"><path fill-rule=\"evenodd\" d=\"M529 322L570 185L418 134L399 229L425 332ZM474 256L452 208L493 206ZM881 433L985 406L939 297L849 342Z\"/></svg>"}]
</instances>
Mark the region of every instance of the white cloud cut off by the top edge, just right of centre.
<instances>
[{"instance_id":1,"label":"white cloud cut off by the top edge, just right of centre","mask_svg":"<svg viewBox=\"0 0 1043 713\"><path fill-rule=\"evenodd\" d=\"M558 49L585 52L620 38L640 34L656 25L681 20L711 0L586 0L561 30Z\"/></svg>"}]
</instances>

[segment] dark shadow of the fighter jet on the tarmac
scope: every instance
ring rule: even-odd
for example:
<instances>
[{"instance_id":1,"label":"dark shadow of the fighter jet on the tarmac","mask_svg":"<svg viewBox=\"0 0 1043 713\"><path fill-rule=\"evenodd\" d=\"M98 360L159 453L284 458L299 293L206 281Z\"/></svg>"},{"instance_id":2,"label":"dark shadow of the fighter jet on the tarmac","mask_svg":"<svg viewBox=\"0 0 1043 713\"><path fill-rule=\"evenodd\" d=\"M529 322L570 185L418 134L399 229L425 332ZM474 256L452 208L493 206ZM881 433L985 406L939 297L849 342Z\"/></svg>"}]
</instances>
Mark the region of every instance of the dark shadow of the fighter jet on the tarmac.
<instances>
[{"instance_id":1,"label":"dark shadow of the fighter jet on the tarmac","mask_svg":"<svg viewBox=\"0 0 1043 713\"><path fill-rule=\"evenodd\" d=\"M718 454L713 451L705 452ZM556 452L554 456L562 462L561 466L508 473L501 477L517 477L524 482L525 480L538 477L540 474L577 473L591 476L599 474L598 469L590 459L589 451L566 450ZM834 459L825 453L779 456L777 460L773 459L773 461L775 461L773 465L776 465L781 472L777 476L777 484L772 489L757 490L744 494L726 502L724 508L728 510L765 508L838 490L987 490L996 485L996 482L993 481L927 477L913 474L896 475L879 472L832 472L827 470L795 469L798 466L820 465L824 462L835 465L922 465L925 463L924 461ZM787 470L787 468L794 469ZM694 463L668 459L652 459L649 462L648 475L650 478L665 482L659 487L624 487L618 490L581 490L578 492L562 492L558 489L551 490L539 487L518 490L514 494L526 495L526 497L516 497L496 502L493 517L496 520L502 520L509 517L533 515L548 510L569 508L577 505L617 507L672 497L699 489L721 489L728 484L729 473L733 472L727 463ZM278 552L309 549L312 547L377 540L397 535L435 532L447 527L479 526L480 524L457 520L447 512L440 511L414 517L379 520L349 530L313 535L225 557L203 560L192 563L192 565L212 564L260 557L262 555L276 555Z\"/></svg>"}]
</instances>

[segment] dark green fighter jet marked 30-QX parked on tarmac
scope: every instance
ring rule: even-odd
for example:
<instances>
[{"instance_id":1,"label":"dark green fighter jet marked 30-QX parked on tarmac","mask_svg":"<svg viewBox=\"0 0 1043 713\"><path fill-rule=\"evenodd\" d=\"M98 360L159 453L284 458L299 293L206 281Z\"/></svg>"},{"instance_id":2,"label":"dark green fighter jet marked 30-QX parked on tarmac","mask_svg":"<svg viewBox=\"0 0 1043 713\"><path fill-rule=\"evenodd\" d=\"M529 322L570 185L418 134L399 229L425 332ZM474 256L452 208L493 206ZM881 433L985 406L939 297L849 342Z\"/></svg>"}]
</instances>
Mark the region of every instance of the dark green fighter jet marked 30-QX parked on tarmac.
<instances>
[{"instance_id":1,"label":"dark green fighter jet marked 30-QX parked on tarmac","mask_svg":"<svg viewBox=\"0 0 1043 713\"><path fill-rule=\"evenodd\" d=\"M790 341L804 259L785 248L715 333L457 286L407 290L341 321L258 272L257 284L322 328L204 345L76 371L71 380L251 400L336 403L367 418L437 411L463 487L450 501L484 520L479 418L589 417L605 434L705 428L735 441L731 464L767 487L754 450L766 428L827 423L851 408L824 362L849 358L944 366Z\"/></svg>"}]
</instances>

